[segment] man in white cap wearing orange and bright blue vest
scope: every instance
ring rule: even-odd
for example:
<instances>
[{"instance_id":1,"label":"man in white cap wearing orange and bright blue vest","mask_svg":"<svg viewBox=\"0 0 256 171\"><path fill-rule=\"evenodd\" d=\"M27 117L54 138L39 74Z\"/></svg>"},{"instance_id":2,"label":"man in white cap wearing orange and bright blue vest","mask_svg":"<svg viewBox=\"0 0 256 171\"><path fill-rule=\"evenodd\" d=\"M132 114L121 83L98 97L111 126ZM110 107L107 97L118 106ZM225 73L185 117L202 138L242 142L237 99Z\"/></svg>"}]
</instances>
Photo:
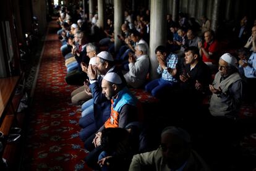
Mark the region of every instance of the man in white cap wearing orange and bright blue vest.
<instances>
[{"instance_id":1,"label":"man in white cap wearing orange and bright blue vest","mask_svg":"<svg viewBox=\"0 0 256 171\"><path fill-rule=\"evenodd\" d=\"M128 123L137 120L138 100L122 84L121 77L117 73L107 73L103 77L101 87L102 93L111 100L111 112L109 112L109 119L106 120L96 135L90 136L85 141L85 149L90 151L85 161L93 169L98 167L98 156L103 151L101 148L101 131L105 128L124 128Z\"/></svg>"}]
</instances>

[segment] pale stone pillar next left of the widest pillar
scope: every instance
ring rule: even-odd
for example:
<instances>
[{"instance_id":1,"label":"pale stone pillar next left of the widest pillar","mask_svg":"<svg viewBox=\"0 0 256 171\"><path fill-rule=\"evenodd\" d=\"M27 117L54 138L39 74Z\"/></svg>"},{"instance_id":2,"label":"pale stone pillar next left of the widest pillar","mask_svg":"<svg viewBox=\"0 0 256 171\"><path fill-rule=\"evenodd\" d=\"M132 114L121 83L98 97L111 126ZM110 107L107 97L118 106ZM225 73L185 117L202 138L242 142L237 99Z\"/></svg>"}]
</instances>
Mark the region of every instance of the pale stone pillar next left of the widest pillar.
<instances>
[{"instance_id":1,"label":"pale stone pillar next left of the widest pillar","mask_svg":"<svg viewBox=\"0 0 256 171\"><path fill-rule=\"evenodd\" d=\"M117 51L122 44L117 35L122 34L121 26L124 23L124 0L114 0L114 50Z\"/></svg>"}]
</instances>

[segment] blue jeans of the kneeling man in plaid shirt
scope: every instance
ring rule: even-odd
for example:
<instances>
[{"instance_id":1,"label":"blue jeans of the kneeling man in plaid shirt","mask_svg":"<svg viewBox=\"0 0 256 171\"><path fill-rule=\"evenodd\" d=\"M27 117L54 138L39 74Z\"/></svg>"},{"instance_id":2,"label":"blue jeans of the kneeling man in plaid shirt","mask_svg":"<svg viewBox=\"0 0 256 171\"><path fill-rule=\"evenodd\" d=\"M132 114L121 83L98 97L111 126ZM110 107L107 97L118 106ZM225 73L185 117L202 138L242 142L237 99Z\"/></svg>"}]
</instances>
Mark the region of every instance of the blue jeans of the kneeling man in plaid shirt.
<instances>
[{"instance_id":1,"label":"blue jeans of the kneeling man in plaid shirt","mask_svg":"<svg viewBox=\"0 0 256 171\"><path fill-rule=\"evenodd\" d=\"M175 83L171 81L163 80L163 78L159 78L153 81L150 81L145 86L145 90L152 94L152 96L155 96L156 98L160 98L166 89L172 88Z\"/></svg>"}]
</instances>

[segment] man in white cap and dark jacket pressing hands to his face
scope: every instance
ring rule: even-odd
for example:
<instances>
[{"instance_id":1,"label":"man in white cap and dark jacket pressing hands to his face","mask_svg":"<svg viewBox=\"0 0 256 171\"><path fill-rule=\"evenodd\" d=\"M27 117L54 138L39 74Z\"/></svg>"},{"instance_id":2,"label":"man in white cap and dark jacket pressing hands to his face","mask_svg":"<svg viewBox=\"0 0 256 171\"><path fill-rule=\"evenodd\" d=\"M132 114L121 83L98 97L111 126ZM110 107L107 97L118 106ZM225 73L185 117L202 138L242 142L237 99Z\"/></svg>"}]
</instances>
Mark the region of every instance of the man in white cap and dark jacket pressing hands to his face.
<instances>
[{"instance_id":1,"label":"man in white cap and dark jacket pressing hands to his face","mask_svg":"<svg viewBox=\"0 0 256 171\"><path fill-rule=\"evenodd\" d=\"M82 141L94 135L109 118L111 102L102 93L101 88L101 81L104 75L109 72L115 72L124 80L122 73L114 67L113 61L114 59L109 52L102 51L96 56L95 68L92 65L88 66L89 88L93 99L82 105L82 118L79 120L79 125L83 128L79 133Z\"/></svg>"}]
</instances>

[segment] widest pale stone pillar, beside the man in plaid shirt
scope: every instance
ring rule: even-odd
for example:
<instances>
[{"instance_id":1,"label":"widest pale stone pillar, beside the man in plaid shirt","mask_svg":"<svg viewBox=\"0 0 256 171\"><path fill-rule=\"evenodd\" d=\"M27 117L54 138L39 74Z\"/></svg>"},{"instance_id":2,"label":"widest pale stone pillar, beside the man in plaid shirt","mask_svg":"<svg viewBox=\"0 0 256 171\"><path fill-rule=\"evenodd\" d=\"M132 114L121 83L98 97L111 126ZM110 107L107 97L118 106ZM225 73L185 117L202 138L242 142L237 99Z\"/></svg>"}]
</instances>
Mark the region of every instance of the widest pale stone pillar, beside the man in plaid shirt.
<instances>
[{"instance_id":1,"label":"widest pale stone pillar, beside the man in plaid shirt","mask_svg":"<svg viewBox=\"0 0 256 171\"><path fill-rule=\"evenodd\" d=\"M150 9L150 79L158 78L156 68L158 61L155 55L157 46L166 44L166 0L151 0Z\"/></svg>"}]
</instances>

